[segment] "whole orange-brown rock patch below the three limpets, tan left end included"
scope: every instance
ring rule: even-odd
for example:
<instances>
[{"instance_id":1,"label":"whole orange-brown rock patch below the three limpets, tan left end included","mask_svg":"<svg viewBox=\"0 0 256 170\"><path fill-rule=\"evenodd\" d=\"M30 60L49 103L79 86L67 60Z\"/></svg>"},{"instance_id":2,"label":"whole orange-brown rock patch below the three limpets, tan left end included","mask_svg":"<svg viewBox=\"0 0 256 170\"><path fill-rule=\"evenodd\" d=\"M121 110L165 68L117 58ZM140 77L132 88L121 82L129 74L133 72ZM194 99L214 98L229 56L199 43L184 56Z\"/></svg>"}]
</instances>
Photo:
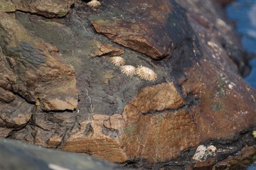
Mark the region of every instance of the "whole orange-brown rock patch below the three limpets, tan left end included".
<instances>
[{"instance_id":1,"label":"whole orange-brown rock patch below the three limpets, tan left end included","mask_svg":"<svg viewBox=\"0 0 256 170\"><path fill-rule=\"evenodd\" d=\"M150 102L153 104L146 104ZM122 115L92 115L92 120L80 123L80 130L68 138L62 149L112 162L141 158L153 163L174 159L200 142L193 117L185 109L144 113L181 106L183 99L173 83L146 87L124 108Z\"/></svg>"}]
</instances>

